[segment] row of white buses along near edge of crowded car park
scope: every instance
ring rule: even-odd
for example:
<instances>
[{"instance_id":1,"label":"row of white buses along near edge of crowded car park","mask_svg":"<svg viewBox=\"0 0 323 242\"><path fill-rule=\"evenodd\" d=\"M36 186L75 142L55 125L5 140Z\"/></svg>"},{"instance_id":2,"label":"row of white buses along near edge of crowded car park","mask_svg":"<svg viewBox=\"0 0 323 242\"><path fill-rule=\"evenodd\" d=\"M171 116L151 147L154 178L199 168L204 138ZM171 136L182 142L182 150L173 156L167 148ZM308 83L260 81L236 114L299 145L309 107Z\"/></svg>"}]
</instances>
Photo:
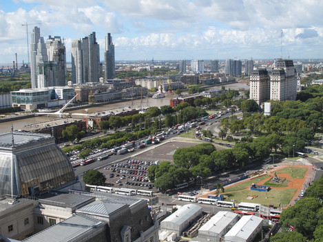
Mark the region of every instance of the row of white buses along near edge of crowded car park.
<instances>
[{"instance_id":1,"label":"row of white buses along near edge of crowded car park","mask_svg":"<svg viewBox=\"0 0 323 242\"><path fill-rule=\"evenodd\" d=\"M130 188L111 188L111 187L105 187L102 185L88 185L86 184L87 188L90 188L90 191L98 191L98 192L109 192L109 193L115 193L115 194L121 194L126 196L134 196L134 195L140 195L140 196L154 196L154 192L152 191L146 191L146 190L137 190L137 189L130 189Z\"/></svg>"}]
</instances>

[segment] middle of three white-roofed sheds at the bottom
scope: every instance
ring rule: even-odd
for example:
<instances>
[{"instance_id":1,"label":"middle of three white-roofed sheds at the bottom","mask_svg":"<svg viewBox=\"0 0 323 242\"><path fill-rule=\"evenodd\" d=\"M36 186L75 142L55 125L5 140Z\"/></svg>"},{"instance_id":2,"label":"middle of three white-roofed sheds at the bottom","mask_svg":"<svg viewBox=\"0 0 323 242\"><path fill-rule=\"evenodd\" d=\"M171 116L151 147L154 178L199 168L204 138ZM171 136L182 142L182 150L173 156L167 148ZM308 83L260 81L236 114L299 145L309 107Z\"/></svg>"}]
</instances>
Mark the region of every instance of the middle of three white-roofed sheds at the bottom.
<instances>
[{"instance_id":1,"label":"middle of three white-roofed sheds at the bottom","mask_svg":"<svg viewBox=\"0 0 323 242\"><path fill-rule=\"evenodd\" d=\"M220 211L212 216L211 219L198 230L198 239L203 239L205 241L221 241L238 220L238 214Z\"/></svg>"}]
</instances>

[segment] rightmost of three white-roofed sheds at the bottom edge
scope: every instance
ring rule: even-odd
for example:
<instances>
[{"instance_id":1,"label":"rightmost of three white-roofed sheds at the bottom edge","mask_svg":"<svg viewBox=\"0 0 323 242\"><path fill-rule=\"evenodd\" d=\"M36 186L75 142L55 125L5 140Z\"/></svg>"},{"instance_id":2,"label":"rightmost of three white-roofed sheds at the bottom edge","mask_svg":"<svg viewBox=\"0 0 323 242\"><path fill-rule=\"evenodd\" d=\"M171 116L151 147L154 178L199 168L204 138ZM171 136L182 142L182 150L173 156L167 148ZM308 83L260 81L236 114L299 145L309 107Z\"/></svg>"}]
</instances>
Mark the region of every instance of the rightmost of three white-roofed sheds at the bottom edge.
<instances>
[{"instance_id":1,"label":"rightmost of three white-roofed sheds at the bottom edge","mask_svg":"<svg viewBox=\"0 0 323 242\"><path fill-rule=\"evenodd\" d=\"M262 229L262 219L254 215L244 215L242 218L225 234L226 242L251 242L256 238Z\"/></svg>"}]
</instances>

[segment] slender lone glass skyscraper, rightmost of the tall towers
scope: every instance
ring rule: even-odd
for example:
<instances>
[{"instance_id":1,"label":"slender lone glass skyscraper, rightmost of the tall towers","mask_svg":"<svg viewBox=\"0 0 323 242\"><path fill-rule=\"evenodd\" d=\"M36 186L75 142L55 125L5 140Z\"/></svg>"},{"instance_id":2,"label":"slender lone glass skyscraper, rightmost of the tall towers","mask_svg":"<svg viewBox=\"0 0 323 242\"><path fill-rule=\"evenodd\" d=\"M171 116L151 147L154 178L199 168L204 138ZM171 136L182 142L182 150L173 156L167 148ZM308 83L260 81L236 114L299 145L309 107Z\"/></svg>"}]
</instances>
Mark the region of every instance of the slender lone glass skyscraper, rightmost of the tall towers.
<instances>
[{"instance_id":1,"label":"slender lone glass skyscraper, rightmost of the tall towers","mask_svg":"<svg viewBox=\"0 0 323 242\"><path fill-rule=\"evenodd\" d=\"M116 77L116 65L114 59L114 44L112 43L112 36L110 33L105 37L105 81L114 79Z\"/></svg>"}]
</instances>

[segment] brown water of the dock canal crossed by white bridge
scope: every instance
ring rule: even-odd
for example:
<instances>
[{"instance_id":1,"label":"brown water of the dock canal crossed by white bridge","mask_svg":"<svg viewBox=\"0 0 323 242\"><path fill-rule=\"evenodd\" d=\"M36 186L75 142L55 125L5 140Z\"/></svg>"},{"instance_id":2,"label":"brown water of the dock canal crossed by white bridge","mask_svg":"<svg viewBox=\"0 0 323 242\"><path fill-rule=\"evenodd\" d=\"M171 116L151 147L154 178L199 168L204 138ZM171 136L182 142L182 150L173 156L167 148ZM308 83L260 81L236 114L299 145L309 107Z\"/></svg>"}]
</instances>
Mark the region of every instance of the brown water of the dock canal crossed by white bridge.
<instances>
[{"instance_id":1,"label":"brown water of the dock canal crossed by white bridge","mask_svg":"<svg viewBox=\"0 0 323 242\"><path fill-rule=\"evenodd\" d=\"M221 86L214 86L213 88L220 89ZM225 85L226 89L238 89L238 88L245 88L246 90L249 89L248 85L245 85L244 83L232 83L232 84L227 84ZM131 108L145 108L145 107L158 107L160 108L163 105L170 105L170 100L174 97L177 97L176 95L174 96L166 96L165 98L162 99L152 99L151 97L146 98L146 99L136 99L133 101L125 101L125 102L120 102L120 103L111 103L111 104L105 104L105 105L100 105L92 108L80 108L78 110L72 110L70 113L94 113L94 112L103 112L107 110L115 110L115 109L122 109L125 107L131 107ZM87 111L85 111L85 109ZM80 116L72 116L74 119L82 119ZM43 123L43 122L49 122L49 121L55 121L59 120L59 117L47 117L47 116L38 116L38 117L32 117L28 119L20 119L20 120L14 120L14 121L9 121L9 122L3 122L0 123L0 133L5 133L5 132L10 132L11 131L11 125L13 126L14 130L23 130L23 128L26 125L32 125L36 123Z\"/></svg>"}]
</instances>

